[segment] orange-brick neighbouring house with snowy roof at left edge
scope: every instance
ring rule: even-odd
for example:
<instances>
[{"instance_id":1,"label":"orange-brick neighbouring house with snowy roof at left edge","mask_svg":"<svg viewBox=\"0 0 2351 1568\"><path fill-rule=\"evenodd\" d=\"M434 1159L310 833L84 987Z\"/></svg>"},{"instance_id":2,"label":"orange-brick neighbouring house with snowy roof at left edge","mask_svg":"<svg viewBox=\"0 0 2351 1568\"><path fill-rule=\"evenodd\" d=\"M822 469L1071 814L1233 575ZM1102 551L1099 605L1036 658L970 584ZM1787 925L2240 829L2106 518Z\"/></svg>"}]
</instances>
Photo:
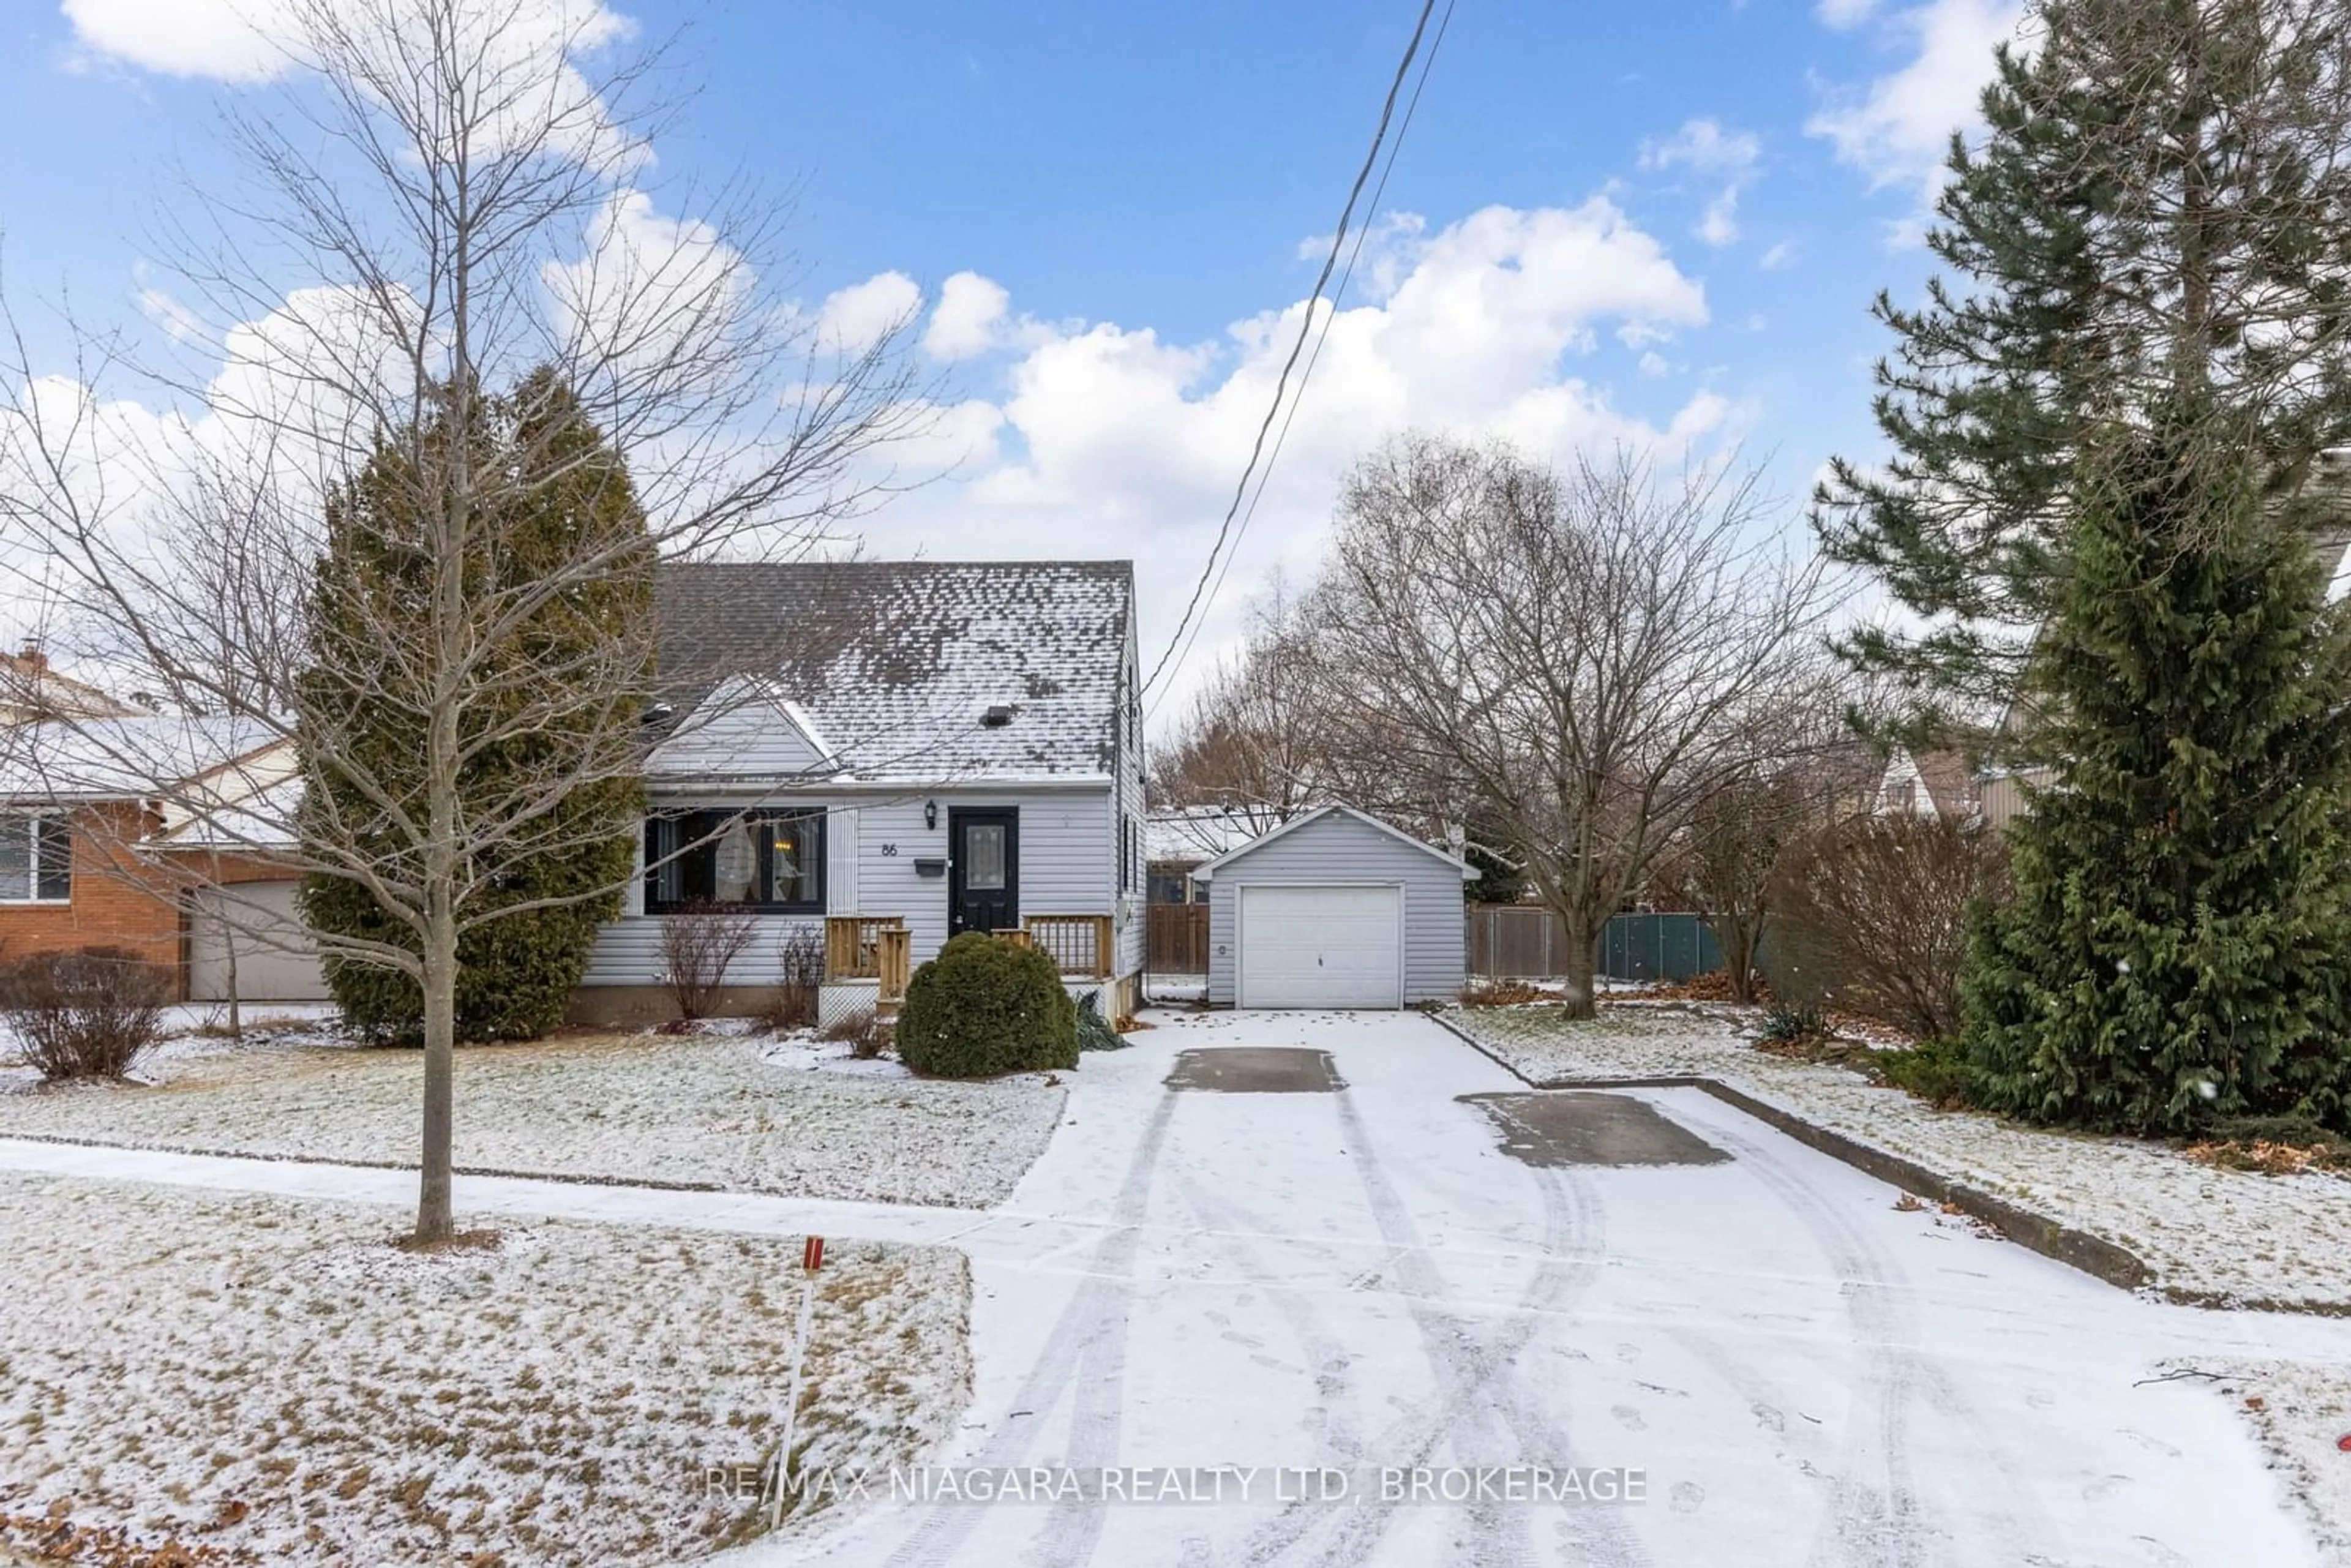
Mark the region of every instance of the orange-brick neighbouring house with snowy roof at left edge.
<instances>
[{"instance_id":1,"label":"orange-brick neighbouring house with snowy roof at left edge","mask_svg":"<svg viewBox=\"0 0 2351 1568\"><path fill-rule=\"evenodd\" d=\"M162 790L230 806L289 773L289 748L249 724L158 715L0 726L0 959L122 947L188 990L195 893L284 884L174 823ZM155 780L167 780L158 785Z\"/></svg>"}]
</instances>

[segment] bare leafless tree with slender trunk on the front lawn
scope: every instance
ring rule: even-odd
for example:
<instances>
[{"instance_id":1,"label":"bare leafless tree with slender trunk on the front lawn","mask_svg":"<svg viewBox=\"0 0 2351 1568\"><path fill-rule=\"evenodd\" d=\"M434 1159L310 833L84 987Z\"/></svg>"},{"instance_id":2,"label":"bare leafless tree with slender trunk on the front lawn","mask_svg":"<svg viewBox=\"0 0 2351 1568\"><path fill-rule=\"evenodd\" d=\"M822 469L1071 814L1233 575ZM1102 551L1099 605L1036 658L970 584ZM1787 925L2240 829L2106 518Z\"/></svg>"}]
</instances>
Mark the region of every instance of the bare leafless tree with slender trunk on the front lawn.
<instances>
[{"instance_id":1,"label":"bare leafless tree with slender trunk on the front lawn","mask_svg":"<svg viewBox=\"0 0 2351 1568\"><path fill-rule=\"evenodd\" d=\"M103 336L82 339L71 386L38 378L12 315L5 369L31 390L0 414L0 524L71 588L87 654L179 712L299 743L287 788L179 799L190 788L158 773L155 797L212 818L230 849L367 889L414 933L327 947L423 990L416 1239L437 1241L454 1229L456 945L534 907L491 907L482 867L560 853L555 804L632 773L642 752L567 748L560 766L461 790L470 757L520 752L520 738L642 691L649 625L607 628L555 665L515 658L517 637L647 548L811 548L889 484L877 451L926 404L905 369L907 322L835 322L790 299L783 207L647 188L656 61L595 31L597 12L289 0L273 16L282 89L226 106L245 179L167 230L200 364L139 369L186 411L103 402L120 369ZM689 216L663 216L656 195ZM625 461L647 529L583 531L569 559L522 583L473 571L496 557L501 517L578 482L562 451L524 435L564 421L517 407L557 388ZM484 423L505 442L494 461L433 435ZM397 458L381 468L404 489L414 538L400 543L430 562L430 590L343 628L341 646L367 646L374 665L339 677L414 715L414 792L346 733L348 691L313 712L301 679L303 590L334 550L327 501L379 451ZM639 712L618 701L604 717L635 726ZM235 893L221 889L221 907L266 931L268 912Z\"/></svg>"}]
</instances>

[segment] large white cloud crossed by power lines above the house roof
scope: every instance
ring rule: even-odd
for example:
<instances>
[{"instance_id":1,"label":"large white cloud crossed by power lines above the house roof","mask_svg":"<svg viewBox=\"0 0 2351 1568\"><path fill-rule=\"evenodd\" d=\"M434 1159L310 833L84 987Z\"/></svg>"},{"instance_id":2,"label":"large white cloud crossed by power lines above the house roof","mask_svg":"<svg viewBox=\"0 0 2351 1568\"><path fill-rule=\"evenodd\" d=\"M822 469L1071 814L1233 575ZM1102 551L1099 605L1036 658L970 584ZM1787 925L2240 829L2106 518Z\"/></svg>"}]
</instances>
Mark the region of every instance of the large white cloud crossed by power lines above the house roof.
<instances>
[{"instance_id":1,"label":"large white cloud crossed by power lines above the house roof","mask_svg":"<svg viewBox=\"0 0 2351 1568\"><path fill-rule=\"evenodd\" d=\"M1643 376L1665 360L1641 355L1704 327L1707 299L1610 200L1488 207L1434 230L1399 214L1373 233L1387 284L1335 317L1317 306L1317 334L1328 320L1328 339L1187 672L1234 635L1241 602L1270 569L1314 569L1340 477L1389 433L1500 435L1552 458L1615 442L1679 449L1737 423L1740 411L1716 393L1669 402L1655 421L1613 395L1610 374L1657 397ZM1013 320L1011 303L997 320ZM1145 658L1157 658L1232 501L1305 303L1251 315L1208 343L1112 322L1016 320L1023 334L994 341L1002 390L955 404L952 428L936 435L938 456L962 470L872 515L868 550L1128 555ZM1627 360L1603 371L1596 360L1615 353L1610 339Z\"/></svg>"}]
</instances>

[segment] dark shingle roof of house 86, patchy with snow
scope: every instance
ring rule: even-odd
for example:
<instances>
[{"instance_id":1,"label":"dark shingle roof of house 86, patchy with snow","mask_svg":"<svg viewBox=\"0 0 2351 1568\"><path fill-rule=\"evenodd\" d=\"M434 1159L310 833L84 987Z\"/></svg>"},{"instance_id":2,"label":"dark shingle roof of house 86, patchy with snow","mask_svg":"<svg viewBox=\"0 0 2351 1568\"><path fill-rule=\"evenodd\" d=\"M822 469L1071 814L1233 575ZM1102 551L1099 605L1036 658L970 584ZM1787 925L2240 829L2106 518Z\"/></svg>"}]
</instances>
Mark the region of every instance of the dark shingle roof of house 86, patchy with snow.
<instances>
[{"instance_id":1,"label":"dark shingle roof of house 86, patchy with snow","mask_svg":"<svg viewBox=\"0 0 2351 1568\"><path fill-rule=\"evenodd\" d=\"M663 564L663 698L686 717L752 677L856 778L1103 776L1133 583L1131 562Z\"/></svg>"}]
</instances>

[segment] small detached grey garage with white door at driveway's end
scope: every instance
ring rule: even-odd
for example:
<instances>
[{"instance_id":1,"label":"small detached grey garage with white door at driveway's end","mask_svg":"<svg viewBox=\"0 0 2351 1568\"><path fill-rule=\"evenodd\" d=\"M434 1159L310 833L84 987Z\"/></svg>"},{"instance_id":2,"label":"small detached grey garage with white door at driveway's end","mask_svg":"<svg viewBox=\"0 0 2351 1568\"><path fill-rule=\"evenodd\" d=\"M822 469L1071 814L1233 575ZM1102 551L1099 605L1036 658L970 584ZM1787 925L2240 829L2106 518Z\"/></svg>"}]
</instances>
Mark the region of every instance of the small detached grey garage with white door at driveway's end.
<instances>
[{"instance_id":1,"label":"small detached grey garage with white door at driveway's end","mask_svg":"<svg viewBox=\"0 0 2351 1568\"><path fill-rule=\"evenodd\" d=\"M1462 987L1455 856L1321 806L1192 872L1208 884L1211 1006L1404 1006Z\"/></svg>"}]
</instances>

